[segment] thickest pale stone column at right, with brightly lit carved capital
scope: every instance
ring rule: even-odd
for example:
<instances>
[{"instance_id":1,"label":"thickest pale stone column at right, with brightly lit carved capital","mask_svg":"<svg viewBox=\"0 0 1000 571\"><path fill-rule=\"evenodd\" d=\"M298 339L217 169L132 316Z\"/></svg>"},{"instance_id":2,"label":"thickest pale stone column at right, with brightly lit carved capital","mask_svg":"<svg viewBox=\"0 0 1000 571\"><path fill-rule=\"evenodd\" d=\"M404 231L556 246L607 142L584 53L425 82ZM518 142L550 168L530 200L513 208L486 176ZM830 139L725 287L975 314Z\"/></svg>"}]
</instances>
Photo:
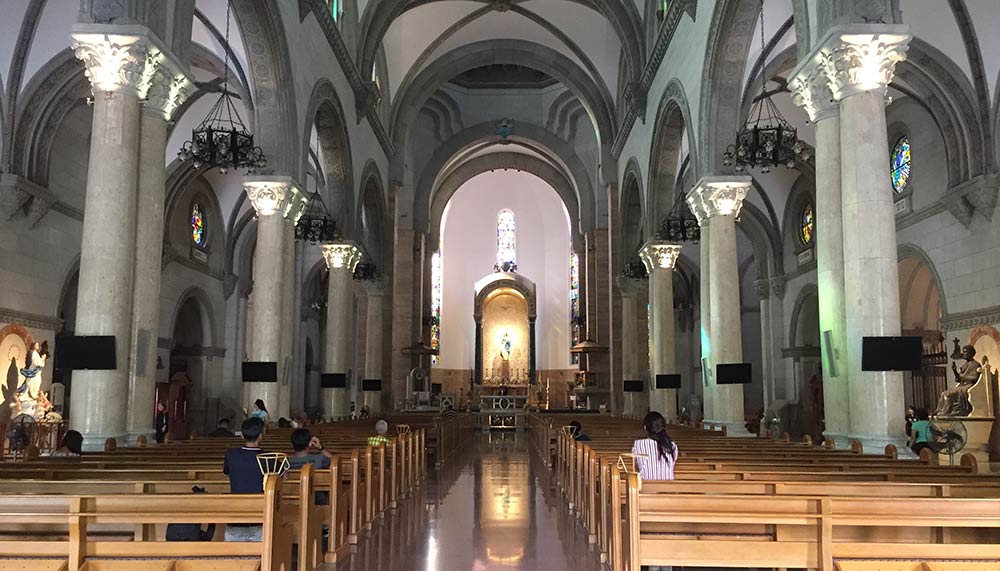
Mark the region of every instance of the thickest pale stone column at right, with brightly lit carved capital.
<instances>
[{"instance_id":1,"label":"thickest pale stone column at right, with brightly lit carved capital","mask_svg":"<svg viewBox=\"0 0 1000 571\"><path fill-rule=\"evenodd\" d=\"M906 26L837 27L826 35L817 55L833 98L840 102L848 437L874 451L889 443L902 450L905 438L900 412L903 374L862 371L861 339L900 334L885 94L910 38ZM821 239L817 235L817 244Z\"/></svg>"}]
</instances>

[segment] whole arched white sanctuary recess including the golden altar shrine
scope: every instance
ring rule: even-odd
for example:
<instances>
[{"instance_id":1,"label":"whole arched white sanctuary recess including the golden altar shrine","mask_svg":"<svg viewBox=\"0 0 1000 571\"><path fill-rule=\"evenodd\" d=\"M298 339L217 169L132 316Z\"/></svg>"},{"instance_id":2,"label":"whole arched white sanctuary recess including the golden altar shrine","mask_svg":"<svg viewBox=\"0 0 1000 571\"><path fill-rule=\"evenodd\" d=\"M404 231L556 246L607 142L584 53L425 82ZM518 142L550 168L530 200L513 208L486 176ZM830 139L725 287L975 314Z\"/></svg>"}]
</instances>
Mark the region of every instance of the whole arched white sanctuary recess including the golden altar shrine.
<instances>
[{"instance_id":1,"label":"whole arched white sanctuary recess including the golden altar shrine","mask_svg":"<svg viewBox=\"0 0 1000 571\"><path fill-rule=\"evenodd\" d=\"M565 403L576 368L563 200L533 174L485 172L454 192L440 227L440 243L428 248L439 348L432 383L459 402Z\"/></svg>"}]
</instances>

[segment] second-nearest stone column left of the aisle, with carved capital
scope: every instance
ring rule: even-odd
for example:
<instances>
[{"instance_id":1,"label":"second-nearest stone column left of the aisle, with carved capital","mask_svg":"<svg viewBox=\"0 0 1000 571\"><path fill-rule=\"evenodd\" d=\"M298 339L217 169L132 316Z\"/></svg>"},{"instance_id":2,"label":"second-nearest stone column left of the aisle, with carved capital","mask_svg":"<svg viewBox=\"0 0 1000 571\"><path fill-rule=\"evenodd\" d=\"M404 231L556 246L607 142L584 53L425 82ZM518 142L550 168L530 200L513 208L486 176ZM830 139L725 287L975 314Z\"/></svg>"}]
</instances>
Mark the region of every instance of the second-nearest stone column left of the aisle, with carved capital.
<instances>
[{"instance_id":1,"label":"second-nearest stone column left of the aisle, with carved capital","mask_svg":"<svg viewBox=\"0 0 1000 571\"><path fill-rule=\"evenodd\" d=\"M253 410L261 399L277 420L281 385L285 381L283 338L291 331L285 324L285 280L288 241L286 218L293 221L301 214L305 197L289 177L268 175L247 177L243 190L257 212L257 245L254 249L253 319L249 324L253 343L250 361L277 363L278 382L243 383L243 406Z\"/></svg>"}]
</instances>

